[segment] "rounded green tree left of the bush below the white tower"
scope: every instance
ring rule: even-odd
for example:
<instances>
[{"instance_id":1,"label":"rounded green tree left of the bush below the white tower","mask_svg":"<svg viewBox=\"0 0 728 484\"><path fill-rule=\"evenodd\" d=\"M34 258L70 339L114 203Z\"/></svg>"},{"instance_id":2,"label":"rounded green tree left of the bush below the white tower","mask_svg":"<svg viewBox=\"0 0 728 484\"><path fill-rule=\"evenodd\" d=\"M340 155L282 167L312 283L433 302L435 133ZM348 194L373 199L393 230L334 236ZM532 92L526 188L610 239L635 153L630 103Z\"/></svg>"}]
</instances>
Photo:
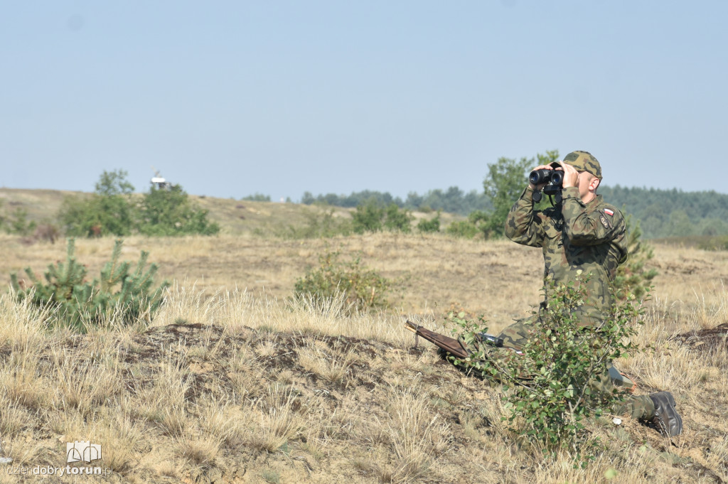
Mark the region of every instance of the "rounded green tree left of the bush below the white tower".
<instances>
[{"instance_id":1,"label":"rounded green tree left of the bush below the white tower","mask_svg":"<svg viewBox=\"0 0 728 484\"><path fill-rule=\"evenodd\" d=\"M134 186L126 179L127 172L114 170L101 174L91 197L66 197L58 218L71 237L128 235L134 225Z\"/></svg>"}]
</instances>

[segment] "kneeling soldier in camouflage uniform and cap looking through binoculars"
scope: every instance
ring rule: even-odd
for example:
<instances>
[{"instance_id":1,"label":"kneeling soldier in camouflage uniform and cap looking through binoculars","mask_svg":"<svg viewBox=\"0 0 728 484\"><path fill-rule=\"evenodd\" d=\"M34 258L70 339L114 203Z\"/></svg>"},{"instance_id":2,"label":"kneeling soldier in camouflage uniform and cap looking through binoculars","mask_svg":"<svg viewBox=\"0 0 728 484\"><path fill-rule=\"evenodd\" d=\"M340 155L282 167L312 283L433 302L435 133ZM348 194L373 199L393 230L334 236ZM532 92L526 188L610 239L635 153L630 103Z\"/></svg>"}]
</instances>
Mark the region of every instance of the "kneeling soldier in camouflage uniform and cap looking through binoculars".
<instances>
[{"instance_id":1,"label":"kneeling soldier in camouflage uniform and cap looking through binoculars","mask_svg":"<svg viewBox=\"0 0 728 484\"><path fill-rule=\"evenodd\" d=\"M552 165L542 165L534 170L563 170L561 204L542 211L534 210L531 197L541 187L529 183L508 214L505 234L519 244L542 248L546 281L567 283L574 281L577 274L590 274L587 301L579 312L582 313L582 325L601 326L612 305L608 282L614 280L617 266L627 258L625 220L617 207L605 203L601 195L596 194L601 182L601 166L594 156L586 151L574 151L563 162ZM542 303L543 307L545 303ZM536 314L507 327L500 335L504 346L521 349L529 338L529 328L539 322ZM613 368L611 370L612 374L617 373ZM609 372L595 376L593 387L611 393L614 381ZM670 436L682 431L675 400L668 392L633 395L614 411L654 421Z\"/></svg>"}]
</instances>

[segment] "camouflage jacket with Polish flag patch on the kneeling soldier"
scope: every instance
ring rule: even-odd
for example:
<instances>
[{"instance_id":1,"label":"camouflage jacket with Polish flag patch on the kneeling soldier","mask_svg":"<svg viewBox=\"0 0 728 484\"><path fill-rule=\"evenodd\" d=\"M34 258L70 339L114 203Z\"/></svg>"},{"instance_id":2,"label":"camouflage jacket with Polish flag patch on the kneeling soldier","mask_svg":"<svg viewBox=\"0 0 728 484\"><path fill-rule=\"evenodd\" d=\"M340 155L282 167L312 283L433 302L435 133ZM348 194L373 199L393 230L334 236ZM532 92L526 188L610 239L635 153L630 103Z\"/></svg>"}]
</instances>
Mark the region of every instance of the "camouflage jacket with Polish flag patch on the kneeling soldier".
<instances>
[{"instance_id":1,"label":"camouflage jacket with Polish flag patch on the kneeling soldier","mask_svg":"<svg viewBox=\"0 0 728 484\"><path fill-rule=\"evenodd\" d=\"M585 204L575 187L563 189L561 206L534 210L533 190L526 188L510 209L506 237L523 245L542 247L544 282L573 281L577 271L591 274L587 301L582 306L584 325L601 325L612 292L609 282L627 258L625 219L620 210L597 195ZM543 306L543 303L542 303Z\"/></svg>"}]
</instances>

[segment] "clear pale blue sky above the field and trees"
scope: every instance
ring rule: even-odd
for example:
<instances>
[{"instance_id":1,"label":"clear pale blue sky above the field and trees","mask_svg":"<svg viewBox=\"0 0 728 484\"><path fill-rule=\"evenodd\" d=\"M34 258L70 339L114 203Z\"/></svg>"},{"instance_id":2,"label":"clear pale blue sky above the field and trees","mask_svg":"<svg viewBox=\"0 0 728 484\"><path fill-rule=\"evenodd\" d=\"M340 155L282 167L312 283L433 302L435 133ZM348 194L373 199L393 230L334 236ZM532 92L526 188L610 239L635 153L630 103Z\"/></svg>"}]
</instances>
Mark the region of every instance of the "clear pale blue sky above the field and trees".
<instances>
[{"instance_id":1,"label":"clear pale blue sky above the field and trees","mask_svg":"<svg viewBox=\"0 0 728 484\"><path fill-rule=\"evenodd\" d=\"M0 186L123 169L273 199L481 189L591 151L728 192L728 1L4 1ZM524 180L525 183L525 180Z\"/></svg>"}]
</instances>

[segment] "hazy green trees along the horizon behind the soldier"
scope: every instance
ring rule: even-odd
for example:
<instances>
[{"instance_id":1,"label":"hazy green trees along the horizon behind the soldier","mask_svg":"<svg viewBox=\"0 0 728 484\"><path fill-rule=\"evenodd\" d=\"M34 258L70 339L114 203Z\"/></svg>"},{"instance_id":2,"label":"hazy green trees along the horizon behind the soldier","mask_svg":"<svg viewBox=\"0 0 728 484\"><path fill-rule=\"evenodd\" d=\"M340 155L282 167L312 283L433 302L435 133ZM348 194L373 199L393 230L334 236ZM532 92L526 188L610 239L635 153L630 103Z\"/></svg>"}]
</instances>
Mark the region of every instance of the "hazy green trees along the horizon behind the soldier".
<instances>
[{"instance_id":1,"label":"hazy green trees along the horizon behind the soldier","mask_svg":"<svg viewBox=\"0 0 728 484\"><path fill-rule=\"evenodd\" d=\"M389 192L355 191L350 195L319 194L306 191L301 197L305 205L321 204L336 207L381 207L397 205L405 210L442 211L468 215L467 221L454 223L451 234L473 237L484 232L486 237L497 236L505 213L526 186L526 173L536 164L558 159L558 151L546 151L534 158L520 160L501 158L489 165L483 182L484 191L465 192L457 186L447 190L430 190L420 195L410 192L406 199L393 197ZM500 191L499 191L500 190ZM693 235L728 235L728 194L716 191L685 192L678 189L627 188L600 186L598 194L607 202L632 215L643 237L687 237ZM446 229L447 230L447 229Z\"/></svg>"}]
</instances>

